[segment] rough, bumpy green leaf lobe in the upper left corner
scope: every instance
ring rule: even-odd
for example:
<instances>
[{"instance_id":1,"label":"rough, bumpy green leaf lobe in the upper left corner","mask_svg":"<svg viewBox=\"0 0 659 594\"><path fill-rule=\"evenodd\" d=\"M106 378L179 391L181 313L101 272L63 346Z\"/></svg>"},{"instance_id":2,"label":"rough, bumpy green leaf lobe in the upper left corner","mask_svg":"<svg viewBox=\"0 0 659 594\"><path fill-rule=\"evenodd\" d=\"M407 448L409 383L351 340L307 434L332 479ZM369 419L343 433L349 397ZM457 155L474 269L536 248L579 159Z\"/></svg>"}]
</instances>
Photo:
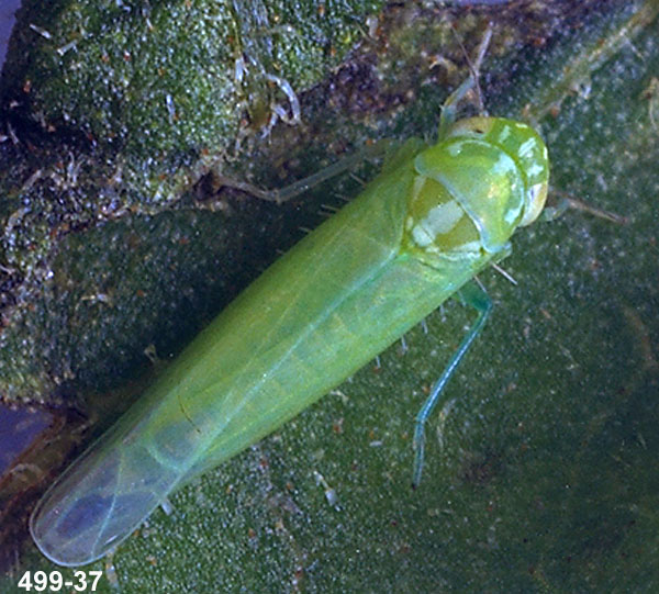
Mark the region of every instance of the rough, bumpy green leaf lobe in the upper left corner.
<instances>
[{"instance_id":1,"label":"rough, bumpy green leaf lobe in the upper left corner","mask_svg":"<svg viewBox=\"0 0 659 594\"><path fill-rule=\"evenodd\" d=\"M191 158L181 154L228 148L241 117L256 125L270 101L288 103L268 75L297 90L315 83L380 5L27 1L4 78L44 126L75 127L135 159L170 161L161 169L170 171Z\"/></svg>"}]
</instances>

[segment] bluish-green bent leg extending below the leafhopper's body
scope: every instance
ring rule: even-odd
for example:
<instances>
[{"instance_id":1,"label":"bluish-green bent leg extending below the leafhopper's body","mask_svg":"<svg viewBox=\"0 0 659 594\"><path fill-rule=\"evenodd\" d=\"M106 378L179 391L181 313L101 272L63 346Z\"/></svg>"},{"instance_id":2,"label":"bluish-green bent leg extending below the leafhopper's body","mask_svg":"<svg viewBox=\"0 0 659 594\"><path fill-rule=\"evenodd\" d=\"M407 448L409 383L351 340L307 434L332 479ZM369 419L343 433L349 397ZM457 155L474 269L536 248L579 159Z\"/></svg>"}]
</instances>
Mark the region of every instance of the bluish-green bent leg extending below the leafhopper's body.
<instances>
[{"instance_id":1,"label":"bluish-green bent leg extending below the leafhopper's body","mask_svg":"<svg viewBox=\"0 0 659 594\"><path fill-rule=\"evenodd\" d=\"M462 360L462 357L469 350L471 343L479 335L481 329L483 328L485 321L492 310L492 302L488 294L480 289L474 282L469 282L459 291L461 298L466 303L471 305L478 312L478 317L476 322L469 328L469 332L462 338L458 350L456 350L448 361L446 369L439 377L439 379L435 382L431 390L429 396L423 403L421 411L418 411L416 415L416 423L414 426L414 474L412 478L412 486L415 487L421 482L421 473L423 472L423 457L424 457L424 446L425 446L425 423L437 406L439 402L439 396L442 395L442 391L444 390L446 383L450 379L450 377L456 371L458 363Z\"/></svg>"}]
</instances>

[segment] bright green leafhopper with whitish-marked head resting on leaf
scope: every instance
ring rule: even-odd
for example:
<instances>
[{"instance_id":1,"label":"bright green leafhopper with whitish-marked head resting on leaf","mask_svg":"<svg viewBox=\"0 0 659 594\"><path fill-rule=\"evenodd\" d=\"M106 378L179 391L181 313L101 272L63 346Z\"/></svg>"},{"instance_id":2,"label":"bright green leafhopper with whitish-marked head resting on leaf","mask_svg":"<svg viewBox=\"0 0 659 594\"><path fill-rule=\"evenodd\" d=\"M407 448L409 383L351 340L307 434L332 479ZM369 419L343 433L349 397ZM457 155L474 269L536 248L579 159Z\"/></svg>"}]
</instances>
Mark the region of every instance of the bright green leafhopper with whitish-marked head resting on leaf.
<instances>
[{"instance_id":1,"label":"bright green leafhopper with whitish-marked head resting on leaf","mask_svg":"<svg viewBox=\"0 0 659 594\"><path fill-rule=\"evenodd\" d=\"M407 142L353 202L309 234L205 328L114 427L47 491L31 534L56 563L89 563L176 489L311 405L460 291L479 317L417 416L482 327L487 295L468 283L507 256L540 214L547 148L528 125L455 122Z\"/></svg>"}]
</instances>

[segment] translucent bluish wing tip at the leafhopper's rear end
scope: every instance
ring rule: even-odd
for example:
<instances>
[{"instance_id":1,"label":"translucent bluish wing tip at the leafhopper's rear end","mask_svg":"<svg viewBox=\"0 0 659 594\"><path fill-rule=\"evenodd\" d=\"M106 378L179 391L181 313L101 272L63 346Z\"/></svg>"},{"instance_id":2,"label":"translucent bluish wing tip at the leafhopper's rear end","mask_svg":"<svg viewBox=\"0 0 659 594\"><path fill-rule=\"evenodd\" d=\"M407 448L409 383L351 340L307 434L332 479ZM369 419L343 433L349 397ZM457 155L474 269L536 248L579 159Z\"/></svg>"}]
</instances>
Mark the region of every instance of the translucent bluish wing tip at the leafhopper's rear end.
<instances>
[{"instance_id":1,"label":"translucent bluish wing tip at the leafhopper's rear end","mask_svg":"<svg viewBox=\"0 0 659 594\"><path fill-rule=\"evenodd\" d=\"M177 484L134 432L109 432L54 483L30 519L40 550L60 565L89 563L124 540Z\"/></svg>"}]
</instances>

